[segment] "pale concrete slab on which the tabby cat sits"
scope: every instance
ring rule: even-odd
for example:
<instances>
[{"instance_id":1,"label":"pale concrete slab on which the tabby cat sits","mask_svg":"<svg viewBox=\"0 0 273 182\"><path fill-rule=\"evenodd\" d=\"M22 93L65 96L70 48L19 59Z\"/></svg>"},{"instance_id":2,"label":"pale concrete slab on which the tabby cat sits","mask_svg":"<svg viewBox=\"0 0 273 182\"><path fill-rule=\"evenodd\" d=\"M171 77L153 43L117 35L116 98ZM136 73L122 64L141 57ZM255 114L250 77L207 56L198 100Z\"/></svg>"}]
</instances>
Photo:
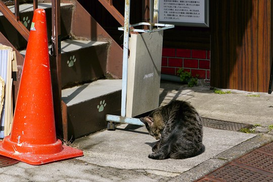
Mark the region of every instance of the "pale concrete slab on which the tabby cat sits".
<instances>
[{"instance_id":1,"label":"pale concrete slab on which the tabby cat sits","mask_svg":"<svg viewBox=\"0 0 273 182\"><path fill-rule=\"evenodd\" d=\"M199 156L174 160L153 160L148 158L156 140L146 128L121 124L115 131L103 131L76 141L83 149L81 160L88 163L120 169L143 169L161 176L176 176L213 158L255 136L236 131L204 127L204 145L206 150Z\"/></svg>"}]
</instances>

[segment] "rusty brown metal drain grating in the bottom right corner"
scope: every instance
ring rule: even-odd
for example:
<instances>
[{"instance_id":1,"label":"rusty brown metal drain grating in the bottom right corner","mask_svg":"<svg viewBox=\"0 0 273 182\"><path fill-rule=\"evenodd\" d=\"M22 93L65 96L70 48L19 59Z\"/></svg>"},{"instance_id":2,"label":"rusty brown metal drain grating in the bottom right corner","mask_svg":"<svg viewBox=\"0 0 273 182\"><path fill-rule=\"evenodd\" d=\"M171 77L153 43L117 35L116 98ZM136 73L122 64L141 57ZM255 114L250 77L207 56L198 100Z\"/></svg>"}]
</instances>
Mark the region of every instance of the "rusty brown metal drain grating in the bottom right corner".
<instances>
[{"instance_id":1,"label":"rusty brown metal drain grating in the bottom right corner","mask_svg":"<svg viewBox=\"0 0 273 182\"><path fill-rule=\"evenodd\" d=\"M273 181L273 143L269 143L243 157L197 179L196 182L217 181Z\"/></svg>"}]
</instances>

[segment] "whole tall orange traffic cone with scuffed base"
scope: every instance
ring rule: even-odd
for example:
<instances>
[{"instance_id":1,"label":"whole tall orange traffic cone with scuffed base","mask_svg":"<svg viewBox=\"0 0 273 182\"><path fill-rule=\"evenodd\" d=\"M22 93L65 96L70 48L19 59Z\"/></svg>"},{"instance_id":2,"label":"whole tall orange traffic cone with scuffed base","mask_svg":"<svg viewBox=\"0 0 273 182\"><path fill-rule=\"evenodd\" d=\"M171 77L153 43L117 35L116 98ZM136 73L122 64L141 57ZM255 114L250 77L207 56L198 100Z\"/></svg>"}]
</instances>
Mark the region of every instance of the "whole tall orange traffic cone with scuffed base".
<instances>
[{"instance_id":1,"label":"whole tall orange traffic cone with scuffed base","mask_svg":"<svg viewBox=\"0 0 273 182\"><path fill-rule=\"evenodd\" d=\"M32 165L79 157L56 138L45 11L34 12L11 134L0 155Z\"/></svg>"}]
</instances>

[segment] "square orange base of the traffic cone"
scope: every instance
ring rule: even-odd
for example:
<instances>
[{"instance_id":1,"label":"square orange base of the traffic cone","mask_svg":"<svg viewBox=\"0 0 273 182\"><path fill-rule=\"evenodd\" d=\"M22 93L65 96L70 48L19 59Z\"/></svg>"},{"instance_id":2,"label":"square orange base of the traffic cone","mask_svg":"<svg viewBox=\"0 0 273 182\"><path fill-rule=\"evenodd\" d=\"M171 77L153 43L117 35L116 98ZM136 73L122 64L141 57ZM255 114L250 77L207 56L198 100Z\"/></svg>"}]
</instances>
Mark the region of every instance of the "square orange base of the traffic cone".
<instances>
[{"instance_id":1,"label":"square orange base of the traffic cone","mask_svg":"<svg viewBox=\"0 0 273 182\"><path fill-rule=\"evenodd\" d=\"M6 138L5 138L6 139ZM16 146L16 147L15 147ZM78 149L74 149L68 146L62 146L62 151L55 154L31 154L30 153L19 153L15 149L19 149L19 146L12 145L10 147L14 147L12 150L6 150L3 147L3 142L0 142L0 155L10 157L27 164L31 165L41 165L46 163L51 163L55 161L60 161L64 159L70 159L74 157L83 156L83 152Z\"/></svg>"}]
</instances>

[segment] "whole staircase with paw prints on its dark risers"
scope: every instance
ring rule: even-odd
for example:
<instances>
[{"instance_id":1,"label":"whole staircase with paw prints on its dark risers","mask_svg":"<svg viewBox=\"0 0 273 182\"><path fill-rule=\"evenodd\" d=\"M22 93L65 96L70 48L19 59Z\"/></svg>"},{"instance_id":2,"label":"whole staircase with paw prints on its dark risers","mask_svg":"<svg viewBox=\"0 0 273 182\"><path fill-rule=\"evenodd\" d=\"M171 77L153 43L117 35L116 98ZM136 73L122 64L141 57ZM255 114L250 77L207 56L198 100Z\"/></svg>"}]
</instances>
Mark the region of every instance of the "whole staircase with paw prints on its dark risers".
<instances>
[{"instance_id":1,"label":"whole staircase with paw prints on its dark risers","mask_svg":"<svg viewBox=\"0 0 273 182\"><path fill-rule=\"evenodd\" d=\"M14 6L9 8L14 12ZM44 9L47 15L48 42L51 43L51 3L39 3L38 8ZM20 21L28 29L32 17L33 6L20 5ZM24 56L26 40L3 15L0 16L0 23L5 25L0 26L0 31ZM68 39L71 37L73 39ZM61 4L60 39L64 119L58 122L63 122L65 139L79 138L106 128L106 114L120 115L121 80L104 78L106 74L107 77L121 78L122 49L76 1L73 4ZM50 48L51 45L49 51ZM56 66L52 58L50 56L53 73ZM22 68L23 64L18 66ZM20 71L18 77L21 76Z\"/></svg>"}]
</instances>

